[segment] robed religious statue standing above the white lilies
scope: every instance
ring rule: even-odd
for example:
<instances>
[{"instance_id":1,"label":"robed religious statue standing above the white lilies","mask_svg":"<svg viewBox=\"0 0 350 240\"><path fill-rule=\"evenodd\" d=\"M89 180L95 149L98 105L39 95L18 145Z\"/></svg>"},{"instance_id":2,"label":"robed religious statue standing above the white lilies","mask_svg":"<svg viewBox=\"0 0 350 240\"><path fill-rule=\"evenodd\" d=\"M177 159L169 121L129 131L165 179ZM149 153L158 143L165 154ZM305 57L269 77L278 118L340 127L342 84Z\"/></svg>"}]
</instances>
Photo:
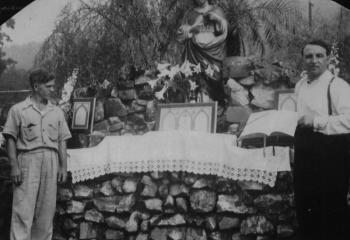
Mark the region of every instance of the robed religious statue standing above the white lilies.
<instances>
[{"instance_id":1,"label":"robed religious statue standing above the white lilies","mask_svg":"<svg viewBox=\"0 0 350 240\"><path fill-rule=\"evenodd\" d=\"M209 96L220 102L225 96L222 83L222 61L226 57L228 22L221 7L209 0L193 0L195 7L185 14L178 29L178 40L185 44L183 60L210 67L213 76L208 79Z\"/></svg>"}]
</instances>

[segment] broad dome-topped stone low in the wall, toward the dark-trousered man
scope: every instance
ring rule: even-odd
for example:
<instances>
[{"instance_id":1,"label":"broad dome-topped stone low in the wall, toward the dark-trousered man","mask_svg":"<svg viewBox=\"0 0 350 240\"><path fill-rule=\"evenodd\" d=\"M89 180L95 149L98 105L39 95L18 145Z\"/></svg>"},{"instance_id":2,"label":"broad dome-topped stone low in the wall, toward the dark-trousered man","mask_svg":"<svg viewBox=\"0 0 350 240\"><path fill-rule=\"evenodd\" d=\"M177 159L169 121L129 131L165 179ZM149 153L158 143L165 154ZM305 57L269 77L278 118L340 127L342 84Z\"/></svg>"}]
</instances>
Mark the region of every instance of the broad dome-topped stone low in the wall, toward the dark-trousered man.
<instances>
[{"instance_id":1,"label":"broad dome-topped stone low in the wall, toward the dark-trousered man","mask_svg":"<svg viewBox=\"0 0 350 240\"><path fill-rule=\"evenodd\" d=\"M241 224L241 233L248 234L266 234L274 230L271 222L264 216L251 216L243 220Z\"/></svg>"}]
</instances>

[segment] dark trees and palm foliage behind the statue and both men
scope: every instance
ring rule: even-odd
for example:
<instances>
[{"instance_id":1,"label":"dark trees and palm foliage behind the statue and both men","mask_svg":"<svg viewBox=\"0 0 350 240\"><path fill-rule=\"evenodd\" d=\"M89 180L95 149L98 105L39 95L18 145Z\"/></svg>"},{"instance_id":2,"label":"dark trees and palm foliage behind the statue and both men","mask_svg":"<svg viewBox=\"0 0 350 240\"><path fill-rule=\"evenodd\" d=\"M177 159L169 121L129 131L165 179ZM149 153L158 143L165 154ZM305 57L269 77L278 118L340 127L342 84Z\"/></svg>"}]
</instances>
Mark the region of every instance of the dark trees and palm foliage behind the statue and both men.
<instances>
[{"instance_id":1,"label":"dark trees and palm foliage behind the statue and both men","mask_svg":"<svg viewBox=\"0 0 350 240\"><path fill-rule=\"evenodd\" d=\"M133 79L138 69L157 63L181 61L182 45L176 30L192 6L188 0L80 0L73 10L66 6L52 34L45 40L33 68L55 73L62 87L74 68L79 68L78 86ZM230 33L238 36L239 54L265 62L282 61L301 71L300 48L312 38L338 41L341 75L350 76L349 38L344 25L349 12L333 21L314 19L312 29L293 0L216 0L230 22ZM13 22L9 25L15 27ZM1 33L1 29L0 29ZM0 34L0 88L28 88L28 71L16 69L1 51L6 36ZM349 56L349 57L348 57ZM5 63L5 65L4 65ZM3 67L5 66L5 67ZM7 69L5 71L5 69ZM296 74L297 75L297 74ZM17 87L17 88L16 88Z\"/></svg>"}]
</instances>

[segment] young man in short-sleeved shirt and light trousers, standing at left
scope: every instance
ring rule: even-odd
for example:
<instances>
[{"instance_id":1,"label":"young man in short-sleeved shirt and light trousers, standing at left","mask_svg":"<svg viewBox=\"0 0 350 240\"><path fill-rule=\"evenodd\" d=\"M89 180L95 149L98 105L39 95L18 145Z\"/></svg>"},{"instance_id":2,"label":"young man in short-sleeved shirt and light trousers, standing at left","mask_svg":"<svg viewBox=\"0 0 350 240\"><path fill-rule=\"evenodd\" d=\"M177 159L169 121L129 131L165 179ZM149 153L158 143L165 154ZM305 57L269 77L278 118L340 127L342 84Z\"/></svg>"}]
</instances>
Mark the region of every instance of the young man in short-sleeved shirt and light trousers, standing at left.
<instances>
[{"instance_id":1,"label":"young man in short-sleeved shirt and light trousers, standing at left","mask_svg":"<svg viewBox=\"0 0 350 240\"><path fill-rule=\"evenodd\" d=\"M13 190L11 240L51 240L57 183L67 177L63 111L50 103L55 79L46 71L29 76L32 94L9 110L7 138Z\"/></svg>"}]
</instances>

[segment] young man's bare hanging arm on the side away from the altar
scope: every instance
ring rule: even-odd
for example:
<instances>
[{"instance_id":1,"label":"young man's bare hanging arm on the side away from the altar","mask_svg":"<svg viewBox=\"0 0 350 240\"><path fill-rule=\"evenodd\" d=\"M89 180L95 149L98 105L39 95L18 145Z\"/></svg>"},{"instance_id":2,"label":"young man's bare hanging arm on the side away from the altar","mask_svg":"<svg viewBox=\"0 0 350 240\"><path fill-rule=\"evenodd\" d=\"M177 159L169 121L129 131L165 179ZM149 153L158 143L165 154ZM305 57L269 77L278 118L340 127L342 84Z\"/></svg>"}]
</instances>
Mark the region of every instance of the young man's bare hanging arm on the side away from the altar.
<instances>
[{"instance_id":1,"label":"young man's bare hanging arm on the side away from the altar","mask_svg":"<svg viewBox=\"0 0 350 240\"><path fill-rule=\"evenodd\" d=\"M11 178L15 185L21 185L22 175L17 159L17 149L15 139L7 137L7 153L11 164Z\"/></svg>"}]
</instances>

